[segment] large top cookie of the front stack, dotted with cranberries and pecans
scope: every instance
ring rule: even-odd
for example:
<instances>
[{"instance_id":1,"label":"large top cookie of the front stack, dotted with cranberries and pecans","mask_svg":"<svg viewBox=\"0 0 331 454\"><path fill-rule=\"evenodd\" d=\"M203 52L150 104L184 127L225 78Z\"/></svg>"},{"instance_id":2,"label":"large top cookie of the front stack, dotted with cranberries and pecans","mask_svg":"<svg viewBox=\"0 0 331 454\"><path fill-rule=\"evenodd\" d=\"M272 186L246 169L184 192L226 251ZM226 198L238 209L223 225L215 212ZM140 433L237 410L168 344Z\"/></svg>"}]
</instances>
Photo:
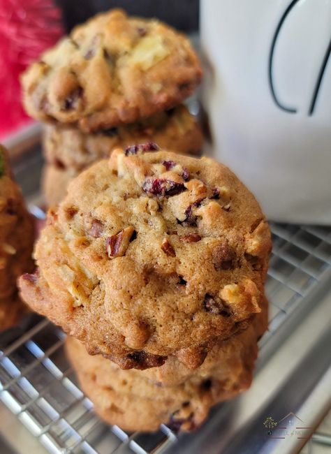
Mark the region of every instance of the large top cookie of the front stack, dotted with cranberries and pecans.
<instances>
[{"instance_id":1,"label":"large top cookie of the front stack, dotted with cranberries and pecans","mask_svg":"<svg viewBox=\"0 0 331 454\"><path fill-rule=\"evenodd\" d=\"M225 166L155 144L115 149L68 187L24 300L123 368L203 363L260 312L270 229Z\"/></svg>"}]
</instances>

